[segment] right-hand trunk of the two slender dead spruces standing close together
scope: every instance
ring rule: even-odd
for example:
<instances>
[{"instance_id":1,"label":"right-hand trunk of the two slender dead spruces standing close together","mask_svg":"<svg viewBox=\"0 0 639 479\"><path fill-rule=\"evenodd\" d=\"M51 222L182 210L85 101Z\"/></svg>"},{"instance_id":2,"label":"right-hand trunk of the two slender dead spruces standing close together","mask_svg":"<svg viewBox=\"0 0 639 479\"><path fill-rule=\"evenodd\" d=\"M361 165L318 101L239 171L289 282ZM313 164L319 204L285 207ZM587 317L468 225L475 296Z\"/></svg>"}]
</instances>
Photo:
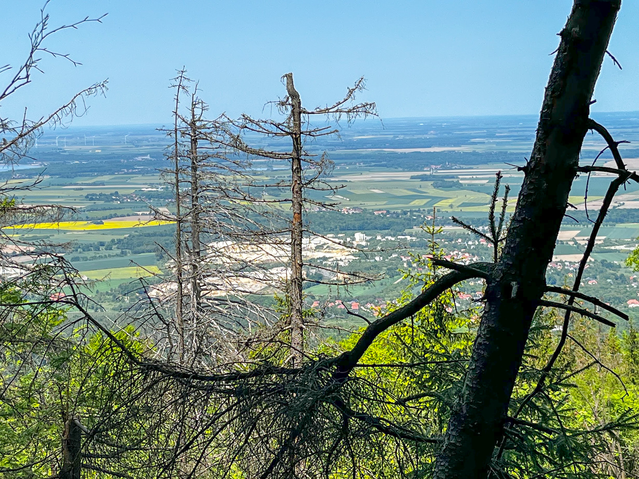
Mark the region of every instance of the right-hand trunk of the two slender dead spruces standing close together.
<instances>
[{"instance_id":1,"label":"right-hand trunk of the two slender dead spruces standing close together","mask_svg":"<svg viewBox=\"0 0 639 479\"><path fill-rule=\"evenodd\" d=\"M193 306L195 314L199 314L201 310L201 285L200 285L200 262L201 262L201 246L200 246L200 225L199 225L199 173L197 155L197 118L196 118L196 102L195 95L191 100L191 123L190 123L190 140L191 140L191 294L193 297Z\"/></svg>"}]
</instances>

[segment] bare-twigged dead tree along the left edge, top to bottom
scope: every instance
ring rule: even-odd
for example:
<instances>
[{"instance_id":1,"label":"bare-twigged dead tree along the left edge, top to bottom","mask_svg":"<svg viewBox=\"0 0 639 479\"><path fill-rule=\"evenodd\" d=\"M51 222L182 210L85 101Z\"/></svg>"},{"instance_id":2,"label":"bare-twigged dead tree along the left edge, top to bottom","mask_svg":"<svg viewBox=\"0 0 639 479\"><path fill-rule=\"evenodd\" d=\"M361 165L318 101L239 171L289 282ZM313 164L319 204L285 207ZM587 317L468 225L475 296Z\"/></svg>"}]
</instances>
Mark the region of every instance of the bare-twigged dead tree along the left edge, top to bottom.
<instances>
[{"instance_id":1,"label":"bare-twigged dead tree along the left edge, top to bottom","mask_svg":"<svg viewBox=\"0 0 639 479\"><path fill-rule=\"evenodd\" d=\"M45 10L48 3L45 2L40 20L29 34L30 48L24 63L17 68L11 65L0 67L0 73L15 72L8 83L0 88L0 103L20 89L27 89L38 72L42 73L42 56L50 55L66 59L73 66L81 65L68 54L50 50L47 45L50 36L88 22L101 22L104 17L86 17L72 24L52 28L49 25L49 14ZM30 148L42 134L43 128L65 125L74 117L82 116L86 112L86 100L106 91L107 82L98 82L82 89L44 116L31 118L27 109L24 109L20 118L0 117L0 161L13 164L24 158L33 159ZM81 294L70 300L62 293L63 289L68 288L75 288L77 291L77 283L80 282L77 271L58 254L68 245L22 241L10 235L13 226L24 227L42 221L58 222L73 213L73 209L56 204L22 204L22 192L36 188L40 181L42 177L37 176L22 183L7 181L0 186L0 382L3 390L0 404L5 420L13 420L15 432L18 435L22 433L15 444L11 439L3 437L3 459L10 457L10 462L3 461L0 475L46 477L50 476L48 471L54 471L54 475L50 477L79 479L82 469L94 468L91 464L82 462L83 459L90 462L91 459L87 458L91 454L81 437L82 434L88 434L88 430L82 427L75 416L76 408L80 403L86 406L91 400L100 398L102 392L94 390L89 393L91 400L79 399L76 402L78 398L70 395L70 391L77 384L73 384L74 380L82 382L82 379L95 374L96 370L92 368L96 361L100 361L100 354L106 351L102 350L102 353L91 358L84 356L88 352L84 347L91 333L82 328L79 324L82 321L73 321L65 316L71 303L86 306L88 302ZM12 256L11 252L17 254ZM71 358L77 360L74 363L74 379L70 372ZM115 367L113 372L116 369L118 368ZM114 386L111 388L113 393L118 388L117 381L113 379L114 377L108 378L102 383L104 391ZM92 387L89 382L82 384L84 390ZM119 385L124 383L126 381ZM127 386L121 392L124 393L126 389ZM63 399L64 396L66 398ZM109 393L106 393L102 399L108 396ZM36 408L31 411L20 409L26 398L35 397L38 397L40 403ZM98 399L93 405L99 402ZM89 414L104 417L116 407L117 404L111 403L105 409L96 409ZM62 418L57 419L60 411ZM26 430L30 432L25 434ZM50 433L56 434L57 440L50 441ZM29 453L24 454L27 450ZM108 468L101 468L100 471L118 475Z\"/></svg>"}]
</instances>

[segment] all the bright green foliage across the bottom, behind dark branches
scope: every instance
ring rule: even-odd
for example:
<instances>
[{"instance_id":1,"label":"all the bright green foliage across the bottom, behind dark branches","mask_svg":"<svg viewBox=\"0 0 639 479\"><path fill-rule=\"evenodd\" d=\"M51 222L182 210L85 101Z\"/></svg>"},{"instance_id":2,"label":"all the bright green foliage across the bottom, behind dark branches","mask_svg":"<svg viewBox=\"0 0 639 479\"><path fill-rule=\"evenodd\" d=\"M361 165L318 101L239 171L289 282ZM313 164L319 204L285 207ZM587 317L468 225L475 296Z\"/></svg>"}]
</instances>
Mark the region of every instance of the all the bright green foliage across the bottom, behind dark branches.
<instances>
[{"instance_id":1,"label":"all the bright green foliage across the bottom, behind dark branches","mask_svg":"<svg viewBox=\"0 0 639 479\"><path fill-rule=\"evenodd\" d=\"M389 303L390 312L442 275L431 262L445 254L437 241L441 231L424 227L427 254L413 254L416 268L403 271L409 284ZM153 345L132 327L96 333L70 321L59 304L29 302L15 287L0 291L2 303L12 305L0 321L0 473L8 479L44 479L59 471L70 418L89 431L83 436L87 476L107 477L98 469L111 469L170 477L195 468L203 478L249 478L291 430L304 426L295 452L304 452L302 467L309 472L427 477L436 441L458 407L481 314L479 303L460 310L458 291L451 289L378 335L339 386L326 358L352 349L363 329L322 342L318 360L292 376L256 374L220 387L142 372L123 349L143 358ZM273 371L288 360L288 301L275 296L282 328L258 335L250 356ZM304 312L307 323L314 314ZM639 332L631 327L619 336L573 319L544 388L530 397L557 347L560 324L554 310L534 317L491 478L637 475ZM181 449L185 441L192 442ZM181 463L175 460L180 454ZM198 458L205 458L203 465L193 466Z\"/></svg>"}]
</instances>

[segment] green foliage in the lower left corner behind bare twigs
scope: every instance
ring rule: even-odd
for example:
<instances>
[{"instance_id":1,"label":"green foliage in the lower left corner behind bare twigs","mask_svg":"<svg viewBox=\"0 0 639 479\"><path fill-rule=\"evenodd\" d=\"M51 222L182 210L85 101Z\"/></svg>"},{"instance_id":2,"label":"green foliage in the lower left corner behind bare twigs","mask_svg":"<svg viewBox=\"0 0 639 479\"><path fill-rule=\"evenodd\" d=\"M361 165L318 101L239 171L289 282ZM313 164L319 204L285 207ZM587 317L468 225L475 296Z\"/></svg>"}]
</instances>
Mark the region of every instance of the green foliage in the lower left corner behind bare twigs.
<instances>
[{"instance_id":1,"label":"green foliage in the lower left corner behind bare twigs","mask_svg":"<svg viewBox=\"0 0 639 479\"><path fill-rule=\"evenodd\" d=\"M3 289L0 296L5 305L0 321L0 475L37 479L59 471L61 439L72 418L91 431L91 437L82 438L86 452L104 448L112 434L134 443L135 429L118 423L116 413L131 414L137 407L130 402L137 372L120 346L141 354L150 345L131 326L109 338L70 321L67 308L56 303L26 301L17 289ZM102 429L95 429L98 424Z\"/></svg>"}]
</instances>

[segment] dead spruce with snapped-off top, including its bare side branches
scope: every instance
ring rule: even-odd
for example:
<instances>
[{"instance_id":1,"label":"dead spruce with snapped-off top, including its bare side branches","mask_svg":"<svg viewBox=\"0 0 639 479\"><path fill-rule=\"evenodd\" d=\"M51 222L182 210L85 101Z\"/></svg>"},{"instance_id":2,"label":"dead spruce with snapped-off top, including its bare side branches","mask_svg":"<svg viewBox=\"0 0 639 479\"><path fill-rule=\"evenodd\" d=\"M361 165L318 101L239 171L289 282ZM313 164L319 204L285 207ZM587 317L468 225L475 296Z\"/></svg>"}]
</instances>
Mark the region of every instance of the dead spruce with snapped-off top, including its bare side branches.
<instances>
[{"instance_id":1,"label":"dead spruce with snapped-off top, including its bare side branches","mask_svg":"<svg viewBox=\"0 0 639 479\"><path fill-rule=\"evenodd\" d=\"M318 107L316 109L306 109L302 106L300 94L295 89L293 83L293 73L286 73L282 77L286 84L286 96L274 102L280 114L285 118L277 119L254 119L248 115L243 115L240 119L227 118L231 128L227 130L227 137L224 144L233 148L236 154L247 155L252 160L269 160L272 162L288 161L291 167L291 178L286 181L275 183L263 183L250 181L247 187L252 190L290 188L291 196L286 198L271 199L263 198L258 201L261 204L283 205L289 204L291 217L288 221L290 248L290 277L286 284L289 328L289 346L291 365L299 366L304 361L304 295L302 293L304 284L304 258L302 255L302 243L305 233L311 232L304 224L304 210L309 206L321 208L332 208L332 204L321 199L311 199L308 192L335 192L335 186L329 185L326 181L327 174L332 171L332 162L326 154L316 155L307 150L307 142L318 137L337 135L339 130L332 125L317 126L312 123L313 119L333 119L339 124L341 118L346 118L350 123L356 118L366 118L376 116L374 103L355 104L355 95L364 89L364 78L355 82L353 87L348 89L346 95L332 105ZM282 140L289 143L290 151L282 149L256 148L250 145L250 138L246 135L260 135L267 139L275 139L277 146L284 147ZM279 231L281 233L281 231ZM313 265L316 268L326 270L327 268ZM339 273L333 271L332 273ZM351 275L354 282L357 282L358 275ZM369 278L366 278L367 280Z\"/></svg>"}]
</instances>

